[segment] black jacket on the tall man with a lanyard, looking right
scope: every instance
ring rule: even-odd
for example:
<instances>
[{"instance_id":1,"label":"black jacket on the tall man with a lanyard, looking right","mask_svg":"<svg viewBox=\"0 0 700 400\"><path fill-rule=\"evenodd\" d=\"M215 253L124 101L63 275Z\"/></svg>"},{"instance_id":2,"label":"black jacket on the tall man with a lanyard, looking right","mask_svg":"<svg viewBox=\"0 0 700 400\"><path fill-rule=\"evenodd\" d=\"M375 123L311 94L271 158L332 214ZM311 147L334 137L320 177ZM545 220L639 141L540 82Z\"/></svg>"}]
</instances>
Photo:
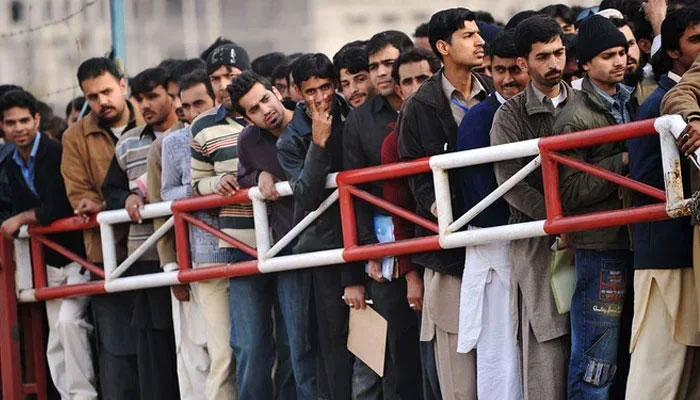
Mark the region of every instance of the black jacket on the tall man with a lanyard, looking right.
<instances>
[{"instance_id":1,"label":"black jacket on the tall man with a lanyard, looking right","mask_svg":"<svg viewBox=\"0 0 700 400\"><path fill-rule=\"evenodd\" d=\"M416 93L411 96L399 115L399 156L401 160L413 160L457 150L457 123L452 116L450 102L442 90L443 70L433 74ZM486 89L494 91L493 81L480 74L474 74ZM458 218L462 211L456 170L449 172L452 186L452 215ZM435 221L430 208L435 202L432 174L413 175L407 178L413 197L416 199L416 213L423 218ZM416 236L434 233L416 226ZM464 269L464 249L451 249L417 254L416 264L440 273L462 276Z\"/></svg>"}]
</instances>

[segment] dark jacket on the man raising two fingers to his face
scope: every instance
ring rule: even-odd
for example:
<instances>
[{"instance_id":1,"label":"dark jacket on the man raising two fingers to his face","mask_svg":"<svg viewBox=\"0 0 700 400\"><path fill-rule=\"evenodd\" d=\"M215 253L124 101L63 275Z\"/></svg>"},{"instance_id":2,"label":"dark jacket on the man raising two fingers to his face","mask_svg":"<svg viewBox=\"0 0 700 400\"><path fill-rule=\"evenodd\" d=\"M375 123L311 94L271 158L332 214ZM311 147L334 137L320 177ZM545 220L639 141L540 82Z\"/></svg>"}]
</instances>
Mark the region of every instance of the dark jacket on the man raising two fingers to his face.
<instances>
[{"instance_id":1,"label":"dark jacket on the man raising two fingers to his face","mask_svg":"<svg viewBox=\"0 0 700 400\"><path fill-rule=\"evenodd\" d=\"M277 140L278 157L294 192L294 223L314 211L332 191L325 189L326 176L343 169L343 123L350 106L336 95L331 137L326 147L311 140L311 119L306 104L299 103L292 122ZM321 214L302 232L294 246L295 253L343 247L338 202ZM364 270L359 264L348 264L342 270L343 287L364 282Z\"/></svg>"}]
</instances>

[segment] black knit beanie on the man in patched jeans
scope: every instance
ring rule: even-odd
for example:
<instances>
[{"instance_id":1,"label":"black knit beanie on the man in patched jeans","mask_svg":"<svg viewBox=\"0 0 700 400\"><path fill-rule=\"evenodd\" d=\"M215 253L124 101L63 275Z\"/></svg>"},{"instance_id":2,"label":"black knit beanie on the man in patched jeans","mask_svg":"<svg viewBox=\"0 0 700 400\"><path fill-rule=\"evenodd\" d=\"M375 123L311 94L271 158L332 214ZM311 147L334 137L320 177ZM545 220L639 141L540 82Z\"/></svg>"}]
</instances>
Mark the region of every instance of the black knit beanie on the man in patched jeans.
<instances>
[{"instance_id":1,"label":"black knit beanie on the man in patched jeans","mask_svg":"<svg viewBox=\"0 0 700 400\"><path fill-rule=\"evenodd\" d=\"M579 67L593 57L613 47L628 48L625 35L610 20L591 15L581 22L576 38L576 57Z\"/></svg>"}]
</instances>

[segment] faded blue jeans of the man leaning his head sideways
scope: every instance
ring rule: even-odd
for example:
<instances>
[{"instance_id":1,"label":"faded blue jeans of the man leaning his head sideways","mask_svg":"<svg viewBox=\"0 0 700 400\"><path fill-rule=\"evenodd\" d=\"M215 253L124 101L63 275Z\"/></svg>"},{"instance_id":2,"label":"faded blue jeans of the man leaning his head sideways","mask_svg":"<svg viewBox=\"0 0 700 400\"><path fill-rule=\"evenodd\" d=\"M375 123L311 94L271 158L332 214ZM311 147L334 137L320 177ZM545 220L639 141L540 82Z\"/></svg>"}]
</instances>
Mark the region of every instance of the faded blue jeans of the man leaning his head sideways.
<instances>
[{"instance_id":1,"label":"faded blue jeans of the man leaning his head sideways","mask_svg":"<svg viewBox=\"0 0 700 400\"><path fill-rule=\"evenodd\" d=\"M292 271L231 279L231 347L236 356L239 400L274 396L270 376L275 361L272 310L276 297L281 314L276 320L286 331L290 356L289 361L279 360L276 376L291 375L283 370L284 366L291 366L294 373L294 379L277 381L296 383L300 400L316 398L315 355L307 340L310 293L307 275L308 272ZM282 393L289 391L277 389Z\"/></svg>"}]
</instances>

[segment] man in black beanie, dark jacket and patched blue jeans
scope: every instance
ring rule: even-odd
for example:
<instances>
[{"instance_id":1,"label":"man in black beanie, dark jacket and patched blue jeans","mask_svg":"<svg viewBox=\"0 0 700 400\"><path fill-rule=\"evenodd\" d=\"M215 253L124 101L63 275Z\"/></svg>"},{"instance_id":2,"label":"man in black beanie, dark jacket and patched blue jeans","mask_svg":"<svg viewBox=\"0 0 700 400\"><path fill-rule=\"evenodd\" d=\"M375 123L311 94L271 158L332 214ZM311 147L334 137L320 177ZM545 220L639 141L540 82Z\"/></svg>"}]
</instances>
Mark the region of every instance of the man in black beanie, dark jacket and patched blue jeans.
<instances>
[{"instance_id":1,"label":"man in black beanie, dark jacket and patched blue jeans","mask_svg":"<svg viewBox=\"0 0 700 400\"><path fill-rule=\"evenodd\" d=\"M627 65L625 35L599 15L586 18L578 35L578 63L587 75L581 91L557 116L554 132L632 121L637 110L633 89L621 83ZM622 142L576 149L567 155L617 174L628 172ZM620 209L619 189L604 179L560 167L561 201L567 215ZM632 283L627 227L571 233L569 245L574 249L577 277L570 313L569 399L607 399L613 381L625 379L616 371L623 304Z\"/></svg>"}]
</instances>

